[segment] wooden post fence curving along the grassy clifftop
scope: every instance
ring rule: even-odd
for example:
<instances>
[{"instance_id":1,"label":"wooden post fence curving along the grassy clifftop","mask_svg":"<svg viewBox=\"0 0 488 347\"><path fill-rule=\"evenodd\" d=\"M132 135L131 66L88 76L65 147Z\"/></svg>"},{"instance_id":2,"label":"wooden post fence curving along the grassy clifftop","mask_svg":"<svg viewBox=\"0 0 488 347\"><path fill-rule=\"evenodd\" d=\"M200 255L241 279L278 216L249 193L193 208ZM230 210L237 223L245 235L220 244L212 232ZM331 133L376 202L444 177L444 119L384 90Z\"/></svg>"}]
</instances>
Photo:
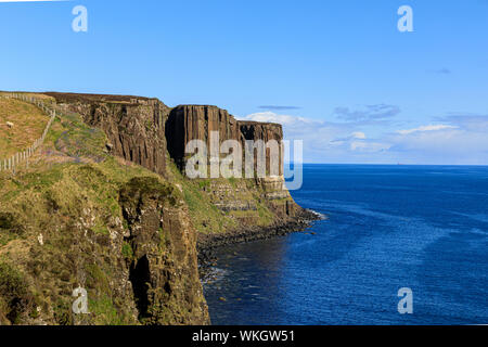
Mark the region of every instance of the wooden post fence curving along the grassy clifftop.
<instances>
[{"instance_id":1,"label":"wooden post fence curving along the grassy clifftop","mask_svg":"<svg viewBox=\"0 0 488 347\"><path fill-rule=\"evenodd\" d=\"M44 128L44 131L42 132L42 136L34 141L33 145L30 145L28 149L22 152L17 152L14 155L12 155L10 158L7 159L0 159L0 171L4 170L11 170L15 172L15 167L26 163L26 166L28 166L29 158L36 153L36 150L44 142L46 136L48 134L49 128L51 127L52 123L54 121L56 117L56 111L54 107L51 107L51 105L44 104L41 100L38 100L33 97L27 97L25 94L18 94L18 93L9 93L2 95L2 98L7 99L17 99L21 101L29 102L31 104L35 104L39 108L41 108L43 112L46 112L48 115L51 115L49 118L48 125Z\"/></svg>"}]
</instances>

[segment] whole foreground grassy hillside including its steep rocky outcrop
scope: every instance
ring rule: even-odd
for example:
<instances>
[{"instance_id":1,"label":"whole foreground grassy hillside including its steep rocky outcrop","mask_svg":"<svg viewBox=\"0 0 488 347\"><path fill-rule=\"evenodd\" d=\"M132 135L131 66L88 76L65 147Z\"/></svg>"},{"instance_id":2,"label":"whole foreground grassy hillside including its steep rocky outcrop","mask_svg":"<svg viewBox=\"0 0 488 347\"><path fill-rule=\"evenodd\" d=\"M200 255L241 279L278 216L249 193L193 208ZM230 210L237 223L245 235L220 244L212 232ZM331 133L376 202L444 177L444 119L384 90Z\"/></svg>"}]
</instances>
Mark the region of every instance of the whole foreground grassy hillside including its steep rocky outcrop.
<instances>
[{"instance_id":1,"label":"whole foreground grassy hillside including its steep rocky outcrop","mask_svg":"<svg viewBox=\"0 0 488 347\"><path fill-rule=\"evenodd\" d=\"M105 153L106 142L78 115L63 115L28 168L0 174L0 323L208 323L195 232L188 218L176 221L184 220L181 193ZM132 205L144 207L127 213ZM159 224L141 224L151 206ZM145 294L137 291L147 275L134 270L141 259L152 265ZM88 314L73 313L78 286Z\"/></svg>"}]
</instances>

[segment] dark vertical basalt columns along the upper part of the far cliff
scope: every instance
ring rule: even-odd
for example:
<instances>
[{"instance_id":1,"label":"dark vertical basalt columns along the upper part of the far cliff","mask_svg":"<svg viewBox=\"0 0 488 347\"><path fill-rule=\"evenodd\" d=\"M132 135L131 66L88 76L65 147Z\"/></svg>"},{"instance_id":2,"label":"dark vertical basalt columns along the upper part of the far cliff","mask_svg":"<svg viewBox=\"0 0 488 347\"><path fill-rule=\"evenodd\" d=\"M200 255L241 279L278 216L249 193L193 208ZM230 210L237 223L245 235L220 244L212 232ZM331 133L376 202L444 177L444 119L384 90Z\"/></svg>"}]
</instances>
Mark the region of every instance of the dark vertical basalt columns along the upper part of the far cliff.
<instances>
[{"instance_id":1,"label":"dark vertical basalt columns along the upper part of the far cliff","mask_svg":"<svg viewBox=\"0 0 488 347\"><path fill-rule=\"evenodd\" d=\"M279 124L236 120L226 110L210 105L180 105L169 108L156 99L125 95L47 93L69 112L102 129L113 154L166 176L166 153L184 169L185 145L202 140L210 146L210 133L218 132L219 144L236 140L245 150L246 141L281 143L283 130ZM274 153L278 176L283 175L281 150ZM266 169L270 172L272 149L266 149ZM256 160L257 162L257 160Z\"/></svg>"}]
</instances>

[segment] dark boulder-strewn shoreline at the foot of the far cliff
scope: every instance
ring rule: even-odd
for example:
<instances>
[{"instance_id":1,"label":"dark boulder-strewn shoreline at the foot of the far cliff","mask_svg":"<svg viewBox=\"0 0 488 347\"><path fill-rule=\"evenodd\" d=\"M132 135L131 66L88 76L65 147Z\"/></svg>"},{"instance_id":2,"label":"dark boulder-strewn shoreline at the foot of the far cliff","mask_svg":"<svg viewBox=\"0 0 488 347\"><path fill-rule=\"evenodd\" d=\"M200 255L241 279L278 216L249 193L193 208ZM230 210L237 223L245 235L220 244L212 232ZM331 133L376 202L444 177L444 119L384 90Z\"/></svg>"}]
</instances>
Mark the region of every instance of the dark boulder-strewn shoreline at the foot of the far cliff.
<instances>
[{"instance_id":1,"label":"dark boulder-strewn shoreline at the foot of the far cliff","mask_svg":"<svg viewBox=\"0 0 488 347\"><path fill-rule=\"evenodd\" d=\"M311 227L317 220L326 217L309 209L304 209L292 221L274 223L269 227L249 227L221 234L201 234L197 241L198 265L206 268L215 262L215 250L233 244L247 243L258 240L269 240L284 236L293 232L301 232Z\"/></svg>"}]
</instances>

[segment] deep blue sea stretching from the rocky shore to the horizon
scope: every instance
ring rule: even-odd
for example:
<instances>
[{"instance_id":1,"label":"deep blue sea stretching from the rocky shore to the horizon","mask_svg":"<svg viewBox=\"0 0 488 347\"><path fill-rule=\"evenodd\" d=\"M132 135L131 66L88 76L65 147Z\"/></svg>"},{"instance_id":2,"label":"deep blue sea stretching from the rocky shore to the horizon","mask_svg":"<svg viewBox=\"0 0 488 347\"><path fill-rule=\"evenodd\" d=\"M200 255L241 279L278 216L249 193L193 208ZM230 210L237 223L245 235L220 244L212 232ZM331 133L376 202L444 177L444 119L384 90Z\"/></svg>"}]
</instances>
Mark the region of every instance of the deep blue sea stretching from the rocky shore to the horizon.
<instances>
[{"instance_id":1,"label":"deep blue sea stretching from the rocky shore to the horizon","mask_svg":"<svg viewBox=\"0 0 488 347\"><path fill-rule=\"evenodd\" d=\"M329 219L219 250L204 285L214 324L488 323L488 167L306 165L304 175L292 195ZM412 314L397 310L401 287Z\"/></svg>"}]
</instances>

